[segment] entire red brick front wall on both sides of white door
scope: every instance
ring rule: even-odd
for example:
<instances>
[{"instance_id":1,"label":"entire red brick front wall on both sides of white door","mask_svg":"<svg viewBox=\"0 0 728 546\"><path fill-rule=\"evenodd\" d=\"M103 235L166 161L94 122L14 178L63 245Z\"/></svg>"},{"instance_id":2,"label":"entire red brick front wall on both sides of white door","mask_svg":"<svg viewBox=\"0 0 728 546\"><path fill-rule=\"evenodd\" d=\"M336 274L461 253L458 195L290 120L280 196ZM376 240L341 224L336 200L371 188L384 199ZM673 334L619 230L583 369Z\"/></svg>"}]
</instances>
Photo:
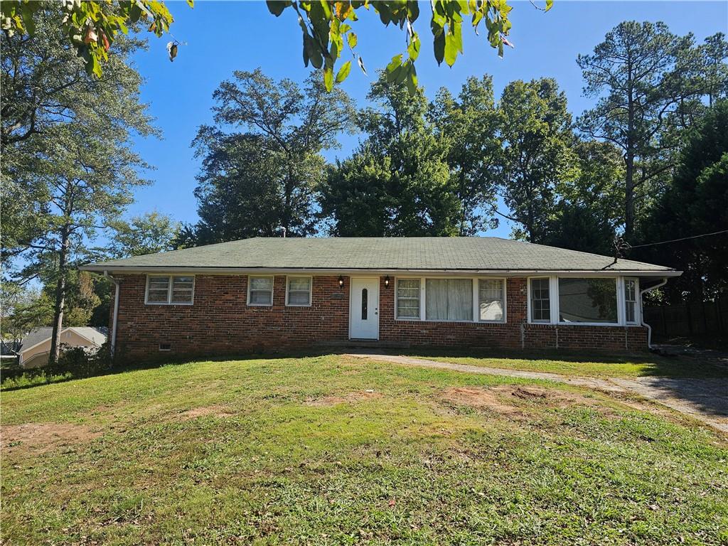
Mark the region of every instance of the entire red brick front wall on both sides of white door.
<instances>
[{"instance_id":1,"label":"entire red brick front wall on both sides of white door","mask_svg":"<svg viewBox=\"0 0 728 546\"><path fill-rule=\"evenodd\" d=\"M274 279L273 306L248 306L245 275L197 275L194 305L146 305L144 275L119 275L120 357L223 355L344 344L349 336L349 278L313 277L312 305L285 306L285 276ZM511 349L646 349L646 329L526 322L526 280L507 280L507 323L395 320L395 283L379 288L379 337L412 346ZM171 351L160 352L169 343Z\"/></svg>"}]
</instances>

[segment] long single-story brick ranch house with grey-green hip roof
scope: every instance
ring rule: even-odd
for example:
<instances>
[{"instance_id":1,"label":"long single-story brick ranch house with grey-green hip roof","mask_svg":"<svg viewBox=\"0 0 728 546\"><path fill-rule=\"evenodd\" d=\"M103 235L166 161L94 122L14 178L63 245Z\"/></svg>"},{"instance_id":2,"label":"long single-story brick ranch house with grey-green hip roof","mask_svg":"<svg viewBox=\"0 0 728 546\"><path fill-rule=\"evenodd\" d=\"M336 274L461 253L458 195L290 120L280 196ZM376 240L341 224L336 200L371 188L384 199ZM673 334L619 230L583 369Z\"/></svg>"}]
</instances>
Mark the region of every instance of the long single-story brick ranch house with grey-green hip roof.
<instances>
[{"instance_id":1,"label":"long single-story brick ranch house with grey-green hip roof","mask_svg":"<svg viewBox=\"0 0 728 546\"><path fill-rule=\"evenodd\" d=\"M354 343L641 351L642 294L681 274L496 237L254 238L82 269L116 285L123 357Z\"/></svg>"}]
</instances>

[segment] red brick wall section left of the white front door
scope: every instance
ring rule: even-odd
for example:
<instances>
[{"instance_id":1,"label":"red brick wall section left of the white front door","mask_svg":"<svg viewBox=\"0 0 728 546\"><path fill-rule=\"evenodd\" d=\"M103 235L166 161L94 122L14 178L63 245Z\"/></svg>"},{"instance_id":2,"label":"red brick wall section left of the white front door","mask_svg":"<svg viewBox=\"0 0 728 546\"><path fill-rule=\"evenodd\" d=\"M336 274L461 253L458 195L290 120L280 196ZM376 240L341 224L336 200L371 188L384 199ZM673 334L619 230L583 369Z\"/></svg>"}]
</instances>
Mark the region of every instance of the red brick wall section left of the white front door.
<instances>
[{"instance_id":1,"label":"red brick wall section left of the white front door","mask_svg":"<svg viewBox=\"0 0 728 546\"><path fill-rule=\"evenodd\" d=\"M216 355L310 347L349 336L349 282L313 277L309 307L285 305L285 276L275 277L272 306L248 306L245 275L197 275L194 305L146 305L144 275L124 275L119 294L117 354Z\"/></svg>"}]
</instances>

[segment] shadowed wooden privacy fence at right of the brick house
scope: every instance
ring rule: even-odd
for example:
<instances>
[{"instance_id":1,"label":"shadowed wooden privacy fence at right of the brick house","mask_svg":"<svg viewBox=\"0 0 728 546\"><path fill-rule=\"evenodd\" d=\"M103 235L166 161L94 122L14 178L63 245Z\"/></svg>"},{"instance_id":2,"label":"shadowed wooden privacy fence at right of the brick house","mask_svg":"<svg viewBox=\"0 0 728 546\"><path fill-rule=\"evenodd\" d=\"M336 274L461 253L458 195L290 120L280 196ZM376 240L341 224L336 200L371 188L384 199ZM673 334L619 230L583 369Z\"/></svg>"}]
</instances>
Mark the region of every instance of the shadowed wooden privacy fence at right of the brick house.
<instances>
[{"instance_id":1,"label":"shadowed wooden privacy fence at right of the brick house","mask_svg":"<svg viewBox=\"0 0 728 546\"><path fill-rule=\"evenodd\" d=\"M694 336L728 333L728 295L714 301L646 306L644 322L661 336Z\"/></svg>"}]
</instances>

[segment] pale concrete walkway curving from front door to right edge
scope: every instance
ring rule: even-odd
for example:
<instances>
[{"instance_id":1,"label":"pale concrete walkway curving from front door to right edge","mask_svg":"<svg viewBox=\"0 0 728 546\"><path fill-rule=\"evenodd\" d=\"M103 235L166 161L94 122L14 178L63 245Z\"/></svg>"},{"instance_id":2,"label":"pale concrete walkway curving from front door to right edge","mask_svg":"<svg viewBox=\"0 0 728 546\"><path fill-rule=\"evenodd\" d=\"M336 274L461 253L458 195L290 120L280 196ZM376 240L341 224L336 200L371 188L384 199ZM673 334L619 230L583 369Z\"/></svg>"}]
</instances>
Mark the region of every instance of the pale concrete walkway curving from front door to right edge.
<instances>
[{"instance_id":1,"label":"pale concrete walkway curving from front door to right edge","mask_svg":"<svg viewBox=\"0 0 728 546\"><path fill-rule=\"evenodd\" d=\"M599 379L562 376L558 373L486 368L485 366L455 364L401 355L384 355L376 352L348 353L347 356L424 368L482 373L490 376L545 379L606 392L636 394L679 411L681 414L692 416L716 430L728 433L728 377L719 379L672 379L667 377Z\"/></svg>"}]
</instances>

